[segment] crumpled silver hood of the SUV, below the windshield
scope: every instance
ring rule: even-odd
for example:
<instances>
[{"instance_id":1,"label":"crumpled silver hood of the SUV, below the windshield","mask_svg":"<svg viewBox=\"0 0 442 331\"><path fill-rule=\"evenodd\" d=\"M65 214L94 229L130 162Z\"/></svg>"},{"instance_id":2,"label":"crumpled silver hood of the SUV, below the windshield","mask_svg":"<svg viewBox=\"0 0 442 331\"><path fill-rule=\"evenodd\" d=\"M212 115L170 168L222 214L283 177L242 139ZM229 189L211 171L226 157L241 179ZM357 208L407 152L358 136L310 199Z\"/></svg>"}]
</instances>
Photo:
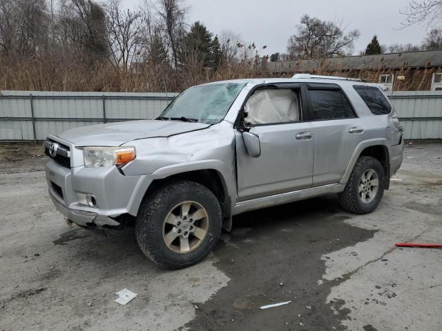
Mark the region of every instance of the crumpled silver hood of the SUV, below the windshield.
<instances>
[{"instance_id":1,"label":"crumpled silver hood of the SUV, below the windshield","mask_svg":"<svg viewBox=\"0 0 442 331\"><path fill-rule=\"evenodd\" d=\"M208 128L209 124L182 121L127 121L83 126L58 134L75 146L119 146L135 139L169 137Z\"/></svg>"}]
</instances>

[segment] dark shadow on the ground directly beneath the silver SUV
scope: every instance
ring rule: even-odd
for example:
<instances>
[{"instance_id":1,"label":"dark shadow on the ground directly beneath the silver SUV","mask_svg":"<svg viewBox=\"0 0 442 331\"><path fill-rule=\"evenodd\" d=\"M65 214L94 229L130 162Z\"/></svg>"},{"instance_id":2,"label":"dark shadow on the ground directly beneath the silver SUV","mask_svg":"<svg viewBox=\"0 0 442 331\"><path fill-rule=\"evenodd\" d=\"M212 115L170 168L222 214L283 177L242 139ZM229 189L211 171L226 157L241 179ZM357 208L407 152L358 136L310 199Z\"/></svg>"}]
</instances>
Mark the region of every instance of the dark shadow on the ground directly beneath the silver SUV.
<instances>
[{"instance_id":1,"label":"dark shadow on the ground directly beneath the silver SUV","mask_svg":"<svg viewBox=\"0 0 442 331\"><path fill-rule=\"evenodd\" d=\"M223 231L221 240L215 245L215 255L224 249L226 237L247 239L247 232L252 229L253 235L276 234L281 231L281 228L286 232L300 230L315 219L330 218L338 211L336 203L334 197L320 197L254 210L233 217L233 228L230 233ZM338 217L336 220L343 218L345 217ZM135 228L128 227L122 231L107 230L104 237L97 234L96 231L79 228L76 225L73 227L71 230L61 233L59 238L52 243L54 245L75 244L79 248L77 251L79 259L95 260L103 264L116 263L116 261L123 259L135 259L136 263L145 263L150 268L157 269L154 263L144 257L138 247ZM309 237L314 238L314 232L311 232ZM106 254L102 254L102 252L106 252Z\"/></svg>"}]
</instances>

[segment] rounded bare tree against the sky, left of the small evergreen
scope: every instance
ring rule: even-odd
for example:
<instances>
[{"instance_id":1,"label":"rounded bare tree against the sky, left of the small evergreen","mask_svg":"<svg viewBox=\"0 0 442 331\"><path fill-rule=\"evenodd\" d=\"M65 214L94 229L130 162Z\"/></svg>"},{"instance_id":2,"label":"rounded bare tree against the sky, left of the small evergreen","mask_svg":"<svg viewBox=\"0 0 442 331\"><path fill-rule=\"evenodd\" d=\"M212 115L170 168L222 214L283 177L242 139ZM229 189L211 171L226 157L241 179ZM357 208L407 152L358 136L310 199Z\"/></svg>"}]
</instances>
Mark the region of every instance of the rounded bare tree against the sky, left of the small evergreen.
<instances>
[{"instance_id":1,"label":"rounded bare tree against the sky, left of the small evergreen","mask_svg":"<svg viewBox=\"0 0 442 331\"><path fill-rule=\"evenodd\" d=\"M298 32L288 41L287 52L294 59L352 54L360 33L352 30L345 34L341 25L304 15L297 26Z\"/></svg>"}]
</instances>

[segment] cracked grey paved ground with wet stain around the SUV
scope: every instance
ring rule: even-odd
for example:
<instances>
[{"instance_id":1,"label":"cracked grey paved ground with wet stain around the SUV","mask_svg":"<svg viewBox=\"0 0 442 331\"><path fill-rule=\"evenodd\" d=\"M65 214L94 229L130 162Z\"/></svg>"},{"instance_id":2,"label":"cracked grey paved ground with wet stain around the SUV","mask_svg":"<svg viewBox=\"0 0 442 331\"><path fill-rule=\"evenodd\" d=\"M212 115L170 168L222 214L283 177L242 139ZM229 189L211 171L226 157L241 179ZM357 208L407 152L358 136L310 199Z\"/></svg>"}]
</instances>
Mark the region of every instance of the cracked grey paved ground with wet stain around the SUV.
<instances>
[{"instance_id":1,"label":"cracked grey paved ground with wet stain around the SUV","mask_svg":"<svg viewBox=\"0 0 442 331\"><path fill-rule=\"evenodd\" d=\"M0 146L0 330L442 330L442 250L394 246L442 242L440 142L407 144L372 214L334 196L242 214L208 259L173 272L132 230L68 227L39 148ZM124 306L123 288L138 294Z\"/></svg>"}]
</instances>

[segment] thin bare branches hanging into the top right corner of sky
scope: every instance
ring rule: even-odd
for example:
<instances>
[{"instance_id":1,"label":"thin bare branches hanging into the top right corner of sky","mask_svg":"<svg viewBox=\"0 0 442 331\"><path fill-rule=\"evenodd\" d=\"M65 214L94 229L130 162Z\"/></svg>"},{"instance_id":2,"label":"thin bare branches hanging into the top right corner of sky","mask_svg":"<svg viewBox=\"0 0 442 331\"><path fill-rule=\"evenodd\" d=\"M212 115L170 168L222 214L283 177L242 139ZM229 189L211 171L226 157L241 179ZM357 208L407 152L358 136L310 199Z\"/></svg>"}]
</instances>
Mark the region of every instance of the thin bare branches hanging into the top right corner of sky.
<instances>
[{"instance_id":1,"label":"thin bare branches hanging into the top right corner of sky","mask_svg":"<svg viewBox=\"0 0 442 331\"><path fill-rule=\"evenodd\" d=\"M426 24L427 27L439 26L442 21L442 0L412 0L401 14L405 16L402 28L416 23Z\"/></svg>"}]
</instances>

